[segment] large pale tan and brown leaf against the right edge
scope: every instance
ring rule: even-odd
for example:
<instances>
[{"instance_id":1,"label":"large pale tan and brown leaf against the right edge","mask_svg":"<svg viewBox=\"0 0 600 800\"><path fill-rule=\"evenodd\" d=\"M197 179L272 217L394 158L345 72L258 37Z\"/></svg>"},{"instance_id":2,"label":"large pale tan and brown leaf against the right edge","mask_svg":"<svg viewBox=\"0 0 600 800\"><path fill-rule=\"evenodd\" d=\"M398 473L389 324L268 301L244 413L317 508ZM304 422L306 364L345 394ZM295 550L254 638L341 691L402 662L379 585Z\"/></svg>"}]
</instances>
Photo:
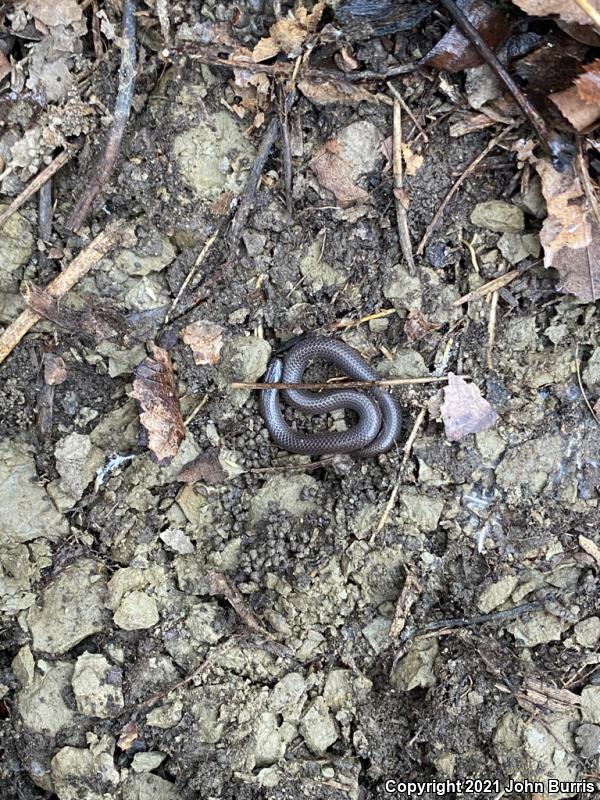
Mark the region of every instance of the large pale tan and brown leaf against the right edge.
<instances>
[{"instance_id":1,"label":"large pale tan and brown leaf against the right edge","mask_svg":"<svg viewBox=\"0 0 600 800\"><path fill-rule=\"evenodd\" d=\"M539 161L536 169L548 206L540 232L544 266L558 271L559 291L593 302L600 297L600 230L579 178L569 171L557 172L547 160Z\"/></svg>"}]
</instances>

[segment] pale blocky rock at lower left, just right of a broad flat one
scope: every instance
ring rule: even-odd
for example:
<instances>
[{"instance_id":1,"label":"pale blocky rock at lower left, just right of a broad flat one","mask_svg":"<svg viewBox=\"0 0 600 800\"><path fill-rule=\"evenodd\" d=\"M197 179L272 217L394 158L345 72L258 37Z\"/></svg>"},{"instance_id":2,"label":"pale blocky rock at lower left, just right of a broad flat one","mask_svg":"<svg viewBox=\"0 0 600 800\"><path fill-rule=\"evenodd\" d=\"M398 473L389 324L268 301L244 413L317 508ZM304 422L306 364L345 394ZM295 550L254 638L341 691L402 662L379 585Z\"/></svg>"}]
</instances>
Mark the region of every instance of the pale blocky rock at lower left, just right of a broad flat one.
<instances>
[{"instance_id":1,"label":"pale blocky rock at lower left, just right of a broad flat one","mask_svg":"<svg viewBox=\"0 0 600 800\"><path fill-rule=\"evenodd\" d=\"M102 655L80 655L71 683L77 708L88 717L110 719L124 706L123 674Z\"/></svg>"}]
</instances>

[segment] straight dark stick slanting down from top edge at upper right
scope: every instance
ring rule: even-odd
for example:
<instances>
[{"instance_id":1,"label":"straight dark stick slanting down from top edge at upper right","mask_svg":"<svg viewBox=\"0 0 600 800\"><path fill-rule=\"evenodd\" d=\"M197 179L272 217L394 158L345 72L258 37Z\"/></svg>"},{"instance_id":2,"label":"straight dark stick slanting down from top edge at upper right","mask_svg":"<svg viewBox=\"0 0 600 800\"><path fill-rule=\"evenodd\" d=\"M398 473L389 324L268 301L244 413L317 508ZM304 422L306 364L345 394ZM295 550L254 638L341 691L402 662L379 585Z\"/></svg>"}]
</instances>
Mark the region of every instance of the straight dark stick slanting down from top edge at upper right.
<instances>
[{"instance_id":1,"label":"straight dark stick slanting down from top edge at upper right","mask_svg":"<svg viewBox=\"0 0 600 800\"><path fill-rule=\"evenodd\" d=\"M544 150L551 156L556 169L561 172L572 158L572 147L559 133L550 128L539 111L527 99L521 88L508 74L494 51L482 39L468 17L458 8L454 0L438 0L439 4L448 12L456 26L471 42L484 61L488 63L498 79L506 86L527 117L542 143Z\"/></svg>"}]
</instances>

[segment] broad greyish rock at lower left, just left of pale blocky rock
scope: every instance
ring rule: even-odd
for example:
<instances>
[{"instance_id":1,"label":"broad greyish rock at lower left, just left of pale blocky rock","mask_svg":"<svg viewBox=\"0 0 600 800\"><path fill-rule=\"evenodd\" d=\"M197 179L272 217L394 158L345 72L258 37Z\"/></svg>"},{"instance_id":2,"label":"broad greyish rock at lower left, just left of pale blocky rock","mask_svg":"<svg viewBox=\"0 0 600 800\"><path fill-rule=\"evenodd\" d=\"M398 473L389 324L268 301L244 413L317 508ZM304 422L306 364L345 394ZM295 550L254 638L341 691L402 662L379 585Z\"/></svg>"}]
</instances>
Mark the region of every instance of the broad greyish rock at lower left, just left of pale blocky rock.
<instances>
[{"instance_id":1,"label":"broad greyish rock at lower left, just left of pale blocky rock","mask_svg":"<svg viewBox=\"0 0 600 800\"><path fill-rule=\"evenodd\" d=\"M17 708L26 728L34 733L56 736L73 723L75 712L65 702L72 675L71 662L46 664L45 672L35 673L29 684L17 693Z\"/></svg>"}]
</instances>

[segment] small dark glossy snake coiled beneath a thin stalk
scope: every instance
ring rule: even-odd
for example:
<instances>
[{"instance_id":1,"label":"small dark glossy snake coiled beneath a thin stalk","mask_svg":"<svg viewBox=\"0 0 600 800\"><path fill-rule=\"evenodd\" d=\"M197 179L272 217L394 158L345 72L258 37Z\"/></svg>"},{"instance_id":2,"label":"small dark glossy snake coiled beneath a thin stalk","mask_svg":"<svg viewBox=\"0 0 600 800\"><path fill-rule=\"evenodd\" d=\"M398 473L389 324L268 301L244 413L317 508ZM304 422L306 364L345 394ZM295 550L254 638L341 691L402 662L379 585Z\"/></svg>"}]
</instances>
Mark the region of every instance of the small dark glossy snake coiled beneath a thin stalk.
<instances>
[{"instance_id":1,"label":"small dark glossy snake coiled beneath a thin stalk","mask_svg":"<svg viewBox=\"0 0 600 800\"><path fill-rule=\"evenodd\" d=\"M266 383L301 383L311 361L334 364L356 381L376 381L379 375L349 345L336 339L315 336L298 342L282 357L276 356L267 369ZM358 422L347 431L302 433L290 428L279 406L279 389L261 392L260 410L273 441L291 453L321 456L352 453L359 457L387 452L400 434L402 414L394 398L373 387L367 391L339 389L317 394L304 389L284 389L287 402L307 414L326 414L351 409Z\"/></svg>"}]
</instances>

